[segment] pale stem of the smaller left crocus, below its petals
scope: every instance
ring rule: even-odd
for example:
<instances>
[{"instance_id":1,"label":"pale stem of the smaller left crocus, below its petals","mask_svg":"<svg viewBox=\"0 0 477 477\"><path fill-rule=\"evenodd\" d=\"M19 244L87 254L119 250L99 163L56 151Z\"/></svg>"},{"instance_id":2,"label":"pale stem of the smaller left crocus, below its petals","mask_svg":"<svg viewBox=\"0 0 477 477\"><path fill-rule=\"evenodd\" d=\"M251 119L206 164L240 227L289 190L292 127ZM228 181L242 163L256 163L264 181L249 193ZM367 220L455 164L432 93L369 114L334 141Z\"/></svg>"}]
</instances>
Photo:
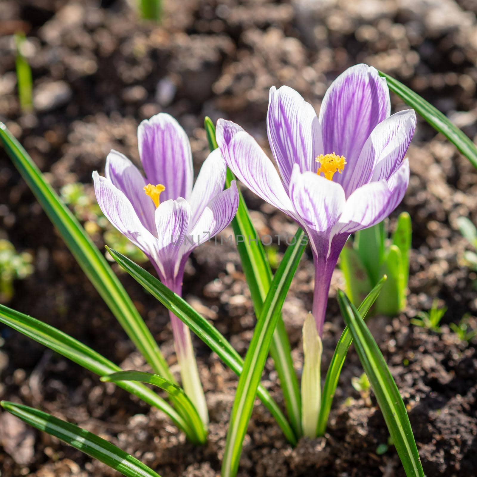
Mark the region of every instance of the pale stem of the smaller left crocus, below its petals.
<instances>
[{"instance_id":1,"label":"pale stem of the smaller left crocus, below its petals","mask_svg":"<svg viewBox=\"0 0 477 477\"><path fill-rule=\"evenodd\" d=\"M166 283L166 285L177 295L182 296L182 278L174 280L173 283ZM176 317L174 313L169 311L169 316L171 319L172 332L174 334L174 346L176 348L177 361L180 366L182 386L189 399L196 406L202 422L207 426L207 403L200 382L190 330L179 318Z\"/></svg>"}]
</instances>

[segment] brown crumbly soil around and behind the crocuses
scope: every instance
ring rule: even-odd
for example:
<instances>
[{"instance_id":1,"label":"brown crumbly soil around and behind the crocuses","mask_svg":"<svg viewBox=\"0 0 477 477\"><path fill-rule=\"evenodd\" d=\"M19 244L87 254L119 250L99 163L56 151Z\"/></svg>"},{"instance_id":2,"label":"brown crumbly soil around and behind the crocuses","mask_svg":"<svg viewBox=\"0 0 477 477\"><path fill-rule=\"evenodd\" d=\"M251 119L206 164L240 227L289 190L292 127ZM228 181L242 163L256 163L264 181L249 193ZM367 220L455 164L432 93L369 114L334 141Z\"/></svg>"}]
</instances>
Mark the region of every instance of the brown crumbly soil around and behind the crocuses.
<instances>
[{"instance_id":1,"label":"brown crumbly soil around and behind the crocuses","mask_svg":"<svg viewBox=\"0 0 477 477\"><path fill-rule=\"evenodd\" d=\"M164 111L191 138L196 172L207 156L205 115L232 119L268 148L265 118L271 85L297 89L319 110L326 88L347 67L369 63L413 88L469 135L477 135L476 0L164 0L161 25L139 21L125 1L0 1L0 120L60 190L82 182L117 149L138 164L136 128ZM33 73L34 112L17 97L12 34L24 31ZM405 108L391 94L393 110ZM268 149L267 149L268 150ZM469 313L477 326L477 279L463 262L470 249L456 218L477 222L477 174L425 122L408 156L411 181L400 211L413 220L410 296L405 313L369 326L409 411L428 476L471 476L477 469L477 356L448 324ZM260 234L293 234L296 226L244 191ZM0 229L33 256L34 273L15 283L9 306L31 314L120 364L148 370L85 278L28 187L0 151ZM224 232L227 237L231 229ZM93 233L103 249L101 233ZM286 245L277 249L281 258ZM152 272L149 264L144 264ZM166 310L117 267L126 290L177 372ZM333 278L324 332L323 376L343 322ZM311 309L313 267L305 253L283 308L297 371L301 325ZM235 246L199 247L189 260L187 301L247 350L255 317ZM448 311L442 332L410 324L435 298ZM220 470L228 414L237 384L195 340L210 409L210 438L195 447L164 415L112 384L10 329L0 327L0 398L39 407L110 440L163 477L212 477ZM381 412L351 386L362 369L353 349L344 365L325 437L291 448L258 404L239 476L403 476ZM283 404L267 363L263 383ZM381 451L378 450L380 446ZM2 477L113 476L115 472L58 440L0 414Z\"/></svg>"}]
</instances>

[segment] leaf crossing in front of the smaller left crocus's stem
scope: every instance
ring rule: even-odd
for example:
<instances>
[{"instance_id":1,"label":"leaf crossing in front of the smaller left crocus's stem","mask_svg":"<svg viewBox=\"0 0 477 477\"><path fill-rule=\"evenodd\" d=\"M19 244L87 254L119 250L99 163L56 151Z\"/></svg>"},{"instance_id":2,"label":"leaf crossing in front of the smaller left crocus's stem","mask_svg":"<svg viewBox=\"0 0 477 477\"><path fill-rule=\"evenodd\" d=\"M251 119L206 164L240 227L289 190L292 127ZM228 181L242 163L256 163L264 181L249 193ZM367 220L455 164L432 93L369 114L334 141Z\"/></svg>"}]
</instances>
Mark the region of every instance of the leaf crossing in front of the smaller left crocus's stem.
<instances>
[{"instance_id":1,"label":"leaf crossing in front of the smaller left crocus's stem","mask_svg":"<svg viewBox=\"0 0 477 477\"><path fill-rule=\"evenodd\" d=\"M237 375L242 373L243 360L239 353L237 353L224 336L203 316L197 313L187 301L169 290L164 284L157 280L156 277L153 277L132 260L124 257L124 255L121 255L113 249L108 247L107 249L114 260L116 260L124 270L137 280L145 290L156 297L168 310L172 311L177 318L183 321L192 332L197 334L212 351L218 354L218 357L227 364L234 373ZM280 425L285 437L292 445L295 445L297 442L296 437L277 403L275 403L270 394L261 385L259 385L257 394L271 415L276 419L278 425Z\"/></svg>"}]
</instances>

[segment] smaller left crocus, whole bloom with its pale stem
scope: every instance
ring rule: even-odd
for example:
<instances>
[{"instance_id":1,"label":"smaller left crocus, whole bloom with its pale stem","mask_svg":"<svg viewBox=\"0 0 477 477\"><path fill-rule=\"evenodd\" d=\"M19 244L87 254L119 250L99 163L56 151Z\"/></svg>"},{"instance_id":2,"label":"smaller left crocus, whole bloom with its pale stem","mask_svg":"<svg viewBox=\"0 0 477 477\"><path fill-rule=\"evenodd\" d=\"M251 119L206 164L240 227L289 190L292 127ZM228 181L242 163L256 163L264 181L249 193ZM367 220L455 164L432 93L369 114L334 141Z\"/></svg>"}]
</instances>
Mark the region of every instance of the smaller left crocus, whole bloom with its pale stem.
<instances>
[{"instance_id":1,"label":"smaller left crocus, whole bloom with its pale stem","mask_svg":"<svg viewBox=\"0 0 477 477\"><path fill-rule=\"evenodd\" d=\"M109 221L151 260L160 280L182 293L191 251L228 226L237 212L235 181L223 190L226 165L217 149L202 165L194 187L186 132L169 114L157 114L138 128L146 178L124 155L111 151L105 175L93 172L98 204ZM190 331L170 313L184 389L207 423Z\"/></svg>"}]
</instances>

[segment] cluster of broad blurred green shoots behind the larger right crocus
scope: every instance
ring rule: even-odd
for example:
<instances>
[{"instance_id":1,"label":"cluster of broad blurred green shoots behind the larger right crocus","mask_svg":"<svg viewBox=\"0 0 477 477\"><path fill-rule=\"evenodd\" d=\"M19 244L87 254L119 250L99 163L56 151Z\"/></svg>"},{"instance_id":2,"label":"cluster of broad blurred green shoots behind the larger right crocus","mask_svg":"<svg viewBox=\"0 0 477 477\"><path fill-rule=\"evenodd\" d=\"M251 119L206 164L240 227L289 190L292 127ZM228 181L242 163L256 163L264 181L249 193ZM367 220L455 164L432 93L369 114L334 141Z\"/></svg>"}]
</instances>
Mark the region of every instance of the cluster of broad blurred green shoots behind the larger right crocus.
<instances>
[{"instance_id":1,"label":"cluster of broad blurred green shoots behind the larger right crocus","mask_svg":"<svg viewBox=\"0 0 477 477\"><path fill-rule=\"evenodd\" d=\"M384 221L354 234L354 240L341 252L340 268L346 281L346 292L355 306L383 275L387 275L374 312L395 316L404 310L411 235L411 217L407 212L398 217L391 239L387 238Z\"/></svg>"}]
</instances>

